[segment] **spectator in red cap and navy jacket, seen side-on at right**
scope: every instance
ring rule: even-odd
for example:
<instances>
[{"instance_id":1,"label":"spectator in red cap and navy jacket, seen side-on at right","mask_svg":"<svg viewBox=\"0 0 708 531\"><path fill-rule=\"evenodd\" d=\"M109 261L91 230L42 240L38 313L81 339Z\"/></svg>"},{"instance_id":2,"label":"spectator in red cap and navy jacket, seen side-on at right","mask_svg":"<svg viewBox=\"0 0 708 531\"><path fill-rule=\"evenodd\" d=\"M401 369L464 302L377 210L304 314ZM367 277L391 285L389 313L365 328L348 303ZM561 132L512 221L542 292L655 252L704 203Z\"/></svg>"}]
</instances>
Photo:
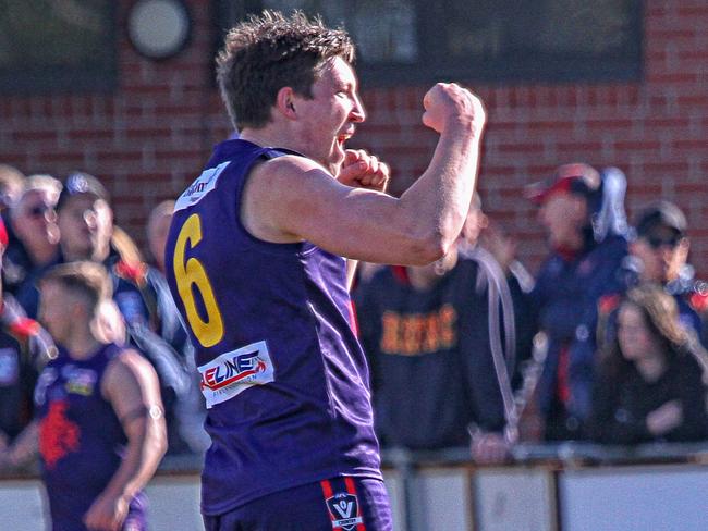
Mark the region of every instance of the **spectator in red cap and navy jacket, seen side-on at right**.
<instances>
[{"instance_id":1,"label":"spectator in red cap and navy jacket, seen side-on at right","mask_svg":"<svg viewBox=\"0 0 708 531\"><path fill-rule=\"evenodd\" d=\"M619 170L608 170L603 183L594 168L573 163L530 189L551 248L532 294L537 328L549 338L538 384L547 440L581 439L590 412L597 304L618 292L627 250L625 187Z\"/></svg>"}]
</instances>

